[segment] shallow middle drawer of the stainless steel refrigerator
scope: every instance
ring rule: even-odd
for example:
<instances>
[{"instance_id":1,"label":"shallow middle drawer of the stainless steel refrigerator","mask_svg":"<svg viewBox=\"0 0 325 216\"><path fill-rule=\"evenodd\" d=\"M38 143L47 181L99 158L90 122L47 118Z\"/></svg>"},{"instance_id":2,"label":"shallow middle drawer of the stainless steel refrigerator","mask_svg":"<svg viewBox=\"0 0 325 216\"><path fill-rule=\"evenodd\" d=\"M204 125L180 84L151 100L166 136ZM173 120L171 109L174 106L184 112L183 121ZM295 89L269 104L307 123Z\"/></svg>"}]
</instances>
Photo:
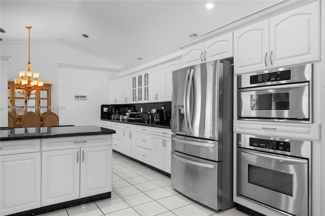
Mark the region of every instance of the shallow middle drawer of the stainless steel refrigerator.
<instances>
[{"instance_id":1,"label":"shallow middle drawer of the stainless steel refrigerator","mask_svg":"<svg viewBox=\"0 0 325 216\"><path fill-rule=\"evenodd\" d=\"M172 149L214 161L222 160L222 141L172 135Z\"/></svg>"}]
</instances>

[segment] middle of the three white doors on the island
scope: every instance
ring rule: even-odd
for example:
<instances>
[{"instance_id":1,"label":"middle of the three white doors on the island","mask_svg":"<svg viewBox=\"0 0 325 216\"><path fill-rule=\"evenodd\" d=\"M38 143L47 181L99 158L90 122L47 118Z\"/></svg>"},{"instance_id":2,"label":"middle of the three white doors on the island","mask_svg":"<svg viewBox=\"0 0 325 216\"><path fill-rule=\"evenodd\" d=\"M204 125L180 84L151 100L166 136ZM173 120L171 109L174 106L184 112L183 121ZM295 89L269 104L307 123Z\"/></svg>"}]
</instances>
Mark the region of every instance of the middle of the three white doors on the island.
<instances>
[{"instance_id":1,"label":"middle of the three white doors on the island","mask_svg":"<svg viewBox=\"0 0 325 216\"><path fill-rule=\"evenodd\" d=\"M80 149L42 152L42 206L79 198Z\"/></svg>"}]
</instances>

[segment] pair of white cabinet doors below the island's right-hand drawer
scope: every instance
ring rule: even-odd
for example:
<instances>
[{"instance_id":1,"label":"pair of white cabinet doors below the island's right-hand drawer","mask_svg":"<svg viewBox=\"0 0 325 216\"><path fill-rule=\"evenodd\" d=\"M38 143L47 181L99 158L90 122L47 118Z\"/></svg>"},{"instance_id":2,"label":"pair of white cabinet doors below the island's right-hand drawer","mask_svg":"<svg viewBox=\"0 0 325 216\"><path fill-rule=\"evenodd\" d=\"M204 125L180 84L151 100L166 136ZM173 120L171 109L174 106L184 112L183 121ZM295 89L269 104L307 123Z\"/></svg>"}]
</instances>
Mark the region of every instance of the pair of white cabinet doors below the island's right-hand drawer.
<instances>
[{"instance_id":1,"label":"pair of white cabinet doors below the island's right-hand drawer","mask_svg":"<svg viewBox=\"0 0 325 216\"><path fill-rule=\"evenodd\" d=\"M42 206L112 191L112 146L42 152Z\"/></svg>"}]
</instances>

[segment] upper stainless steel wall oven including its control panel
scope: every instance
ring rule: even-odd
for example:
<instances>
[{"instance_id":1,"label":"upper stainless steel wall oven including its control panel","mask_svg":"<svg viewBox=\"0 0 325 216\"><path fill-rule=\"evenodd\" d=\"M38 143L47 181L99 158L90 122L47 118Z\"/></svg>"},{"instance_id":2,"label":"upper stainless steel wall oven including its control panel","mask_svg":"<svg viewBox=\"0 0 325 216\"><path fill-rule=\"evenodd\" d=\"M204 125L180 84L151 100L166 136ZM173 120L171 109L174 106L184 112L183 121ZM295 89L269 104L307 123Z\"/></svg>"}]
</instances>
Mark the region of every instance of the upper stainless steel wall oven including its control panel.
<instances>
[{"instance_id":1,"label":"upper stainless steel wall oven including its control panel","mask_svg":"<svg viewBox=\"0 0 325 216\"><path fill-rule=\"evenodd\" d=\"M238 119L312 122L312 64L239 75Z\"/></svg>"}]
</instances>

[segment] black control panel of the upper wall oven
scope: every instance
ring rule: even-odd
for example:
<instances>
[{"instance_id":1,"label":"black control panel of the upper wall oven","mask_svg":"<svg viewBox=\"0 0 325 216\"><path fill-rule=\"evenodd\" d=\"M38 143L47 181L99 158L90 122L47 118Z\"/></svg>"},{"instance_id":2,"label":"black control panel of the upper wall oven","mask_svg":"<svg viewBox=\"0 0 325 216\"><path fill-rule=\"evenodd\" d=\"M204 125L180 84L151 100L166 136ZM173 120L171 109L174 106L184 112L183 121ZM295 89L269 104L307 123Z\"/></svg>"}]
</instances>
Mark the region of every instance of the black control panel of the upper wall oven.
<instances>
[{"instance_id":1,"label":"black control panel of the upper wall oven","mask_svg":"<svg viewBox=\"0 0 325 216\"><path fill-rule=\"evenodd\" d=\"M250 84L268 83L291 79L291 70L282 70L273 73L250 76Z\"/></svg>"}]
</instances>

